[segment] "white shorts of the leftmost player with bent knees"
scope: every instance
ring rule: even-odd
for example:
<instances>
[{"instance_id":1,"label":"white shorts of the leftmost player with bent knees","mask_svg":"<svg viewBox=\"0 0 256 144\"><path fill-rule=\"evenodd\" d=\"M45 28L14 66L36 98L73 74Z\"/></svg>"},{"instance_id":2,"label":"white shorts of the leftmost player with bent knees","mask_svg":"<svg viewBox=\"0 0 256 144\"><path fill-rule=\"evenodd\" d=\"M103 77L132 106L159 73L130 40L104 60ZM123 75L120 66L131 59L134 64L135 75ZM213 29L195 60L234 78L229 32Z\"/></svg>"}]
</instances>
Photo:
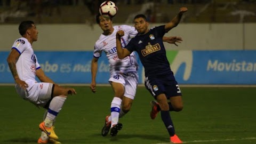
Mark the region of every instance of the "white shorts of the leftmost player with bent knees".
<instances>
[{"instance_id":1,"label":"white shorts of the leftmost player with bent knees","mask_svg":"<svg viewBox=\"0 0 256 144\"><path fill-rule=\"evenodd\" d=\"M23 90L15 84L17 93L25 100L34 103L36 106L44 107L52 99L52 83L27 82L28 88Z\"/></svg>"}]
</instances>

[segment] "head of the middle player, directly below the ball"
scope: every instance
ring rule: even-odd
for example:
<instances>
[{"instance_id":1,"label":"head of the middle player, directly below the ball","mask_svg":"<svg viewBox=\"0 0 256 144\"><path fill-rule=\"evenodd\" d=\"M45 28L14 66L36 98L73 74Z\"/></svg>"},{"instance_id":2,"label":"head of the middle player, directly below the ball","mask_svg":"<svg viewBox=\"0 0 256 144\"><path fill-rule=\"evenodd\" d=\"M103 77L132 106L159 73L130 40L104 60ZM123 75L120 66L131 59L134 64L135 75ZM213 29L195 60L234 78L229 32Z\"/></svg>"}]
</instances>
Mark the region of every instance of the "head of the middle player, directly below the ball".
<instances>
[{"instance_id":1,"label":"head of the middle player, directly below the ball","mask_svg":"<svg viewBox=\"0 0 256 144\"><path fill-rule=\"evenodd\" d=\"M112 28L112 18L108 15L96 15L96 22L99 24L100 28L103 31L109 30Z\"/></svg>"}]
</instances>

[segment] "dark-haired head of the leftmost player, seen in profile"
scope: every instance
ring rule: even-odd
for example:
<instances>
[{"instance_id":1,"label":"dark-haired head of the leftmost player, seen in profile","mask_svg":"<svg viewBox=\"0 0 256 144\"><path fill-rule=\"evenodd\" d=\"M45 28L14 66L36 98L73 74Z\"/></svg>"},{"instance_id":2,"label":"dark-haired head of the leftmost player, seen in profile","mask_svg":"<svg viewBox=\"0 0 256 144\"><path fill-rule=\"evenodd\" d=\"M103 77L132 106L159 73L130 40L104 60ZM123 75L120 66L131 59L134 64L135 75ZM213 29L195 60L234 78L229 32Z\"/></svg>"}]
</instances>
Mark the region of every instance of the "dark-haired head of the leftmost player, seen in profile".
<instances>
[{"instance_id":1,"label":"dark-haired head of the leftmost player, seen in profile","mask_svg":"<svg viewBox=\"0 0 256 144\"><path fill-rule=\"evenodd\" d=\"M33 21L22 21L19 25L19 33L21 36L37 41L38 30Z\"/></svg>"}]
</instances>

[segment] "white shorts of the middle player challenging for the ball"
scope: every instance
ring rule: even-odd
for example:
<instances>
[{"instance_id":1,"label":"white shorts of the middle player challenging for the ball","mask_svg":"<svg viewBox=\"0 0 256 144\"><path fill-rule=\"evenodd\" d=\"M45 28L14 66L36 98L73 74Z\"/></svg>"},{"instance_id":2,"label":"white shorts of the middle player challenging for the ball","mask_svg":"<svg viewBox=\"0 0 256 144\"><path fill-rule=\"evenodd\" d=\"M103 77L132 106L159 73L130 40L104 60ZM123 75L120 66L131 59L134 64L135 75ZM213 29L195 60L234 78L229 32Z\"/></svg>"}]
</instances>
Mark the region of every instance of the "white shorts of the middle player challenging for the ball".
<instances>
[{"instance_id":1,"label":"white shorts of the middle player challenging for the ball","mask_svg":"<svg viewBox=\"0 0 256 144\"><path fill-rule=\"evenodd\" d=\"M130 73L111 73L109 82L121 83L124 86L124 97L134 100L139 81L137 72Z\"/></svg>"}]
</instances>

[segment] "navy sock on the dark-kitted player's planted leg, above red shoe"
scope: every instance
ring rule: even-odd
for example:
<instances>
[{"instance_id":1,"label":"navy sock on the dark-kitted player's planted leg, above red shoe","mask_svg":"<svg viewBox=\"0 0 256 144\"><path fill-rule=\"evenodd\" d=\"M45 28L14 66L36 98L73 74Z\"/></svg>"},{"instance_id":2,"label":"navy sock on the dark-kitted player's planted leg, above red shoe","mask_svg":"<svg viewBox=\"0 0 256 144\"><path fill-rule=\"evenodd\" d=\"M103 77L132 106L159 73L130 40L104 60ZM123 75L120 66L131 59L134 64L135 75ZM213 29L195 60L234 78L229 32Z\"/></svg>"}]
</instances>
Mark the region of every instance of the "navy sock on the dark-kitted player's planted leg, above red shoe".
<instances>
[{"instance_id":1,"label":"navy sock on the dark-kitted player's planted leg, above red shoe","mask_svg":"<svg viewBox=\"0 0 256 144\"><path fill-rule=\"evenodd\" d=\"M161 118L170 137L172 137L175 134L175 130L169 111L161 111Z\"/></svg>"}]
</instances>

